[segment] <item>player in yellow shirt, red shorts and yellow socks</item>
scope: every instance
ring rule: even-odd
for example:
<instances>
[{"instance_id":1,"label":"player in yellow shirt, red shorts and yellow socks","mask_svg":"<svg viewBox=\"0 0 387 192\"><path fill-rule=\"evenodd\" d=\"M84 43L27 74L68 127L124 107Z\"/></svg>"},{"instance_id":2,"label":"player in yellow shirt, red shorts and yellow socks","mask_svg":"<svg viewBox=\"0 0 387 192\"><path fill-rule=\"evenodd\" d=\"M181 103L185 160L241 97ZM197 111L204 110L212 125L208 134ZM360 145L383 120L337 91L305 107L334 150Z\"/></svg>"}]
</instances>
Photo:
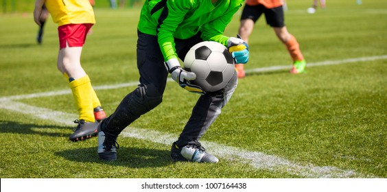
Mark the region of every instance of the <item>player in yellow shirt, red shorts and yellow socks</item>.
<instances>
[{"instance_id":1,"label":"player in yellow shirt, red shorts and yellow socks","mask_svg":"<svg viewBox=\"0 0 387 192\"><path fill-rule=\"evenodd\" d=\"M101 103L95 94L89 75L80 64L82 46L86 34L95 23L93 7L89 0L36 0L34 21L41 25L43 4L58 23L59 53L58 70L69 80L69 85L78 108L79 119L71 141L89 139L97 134L99 121L106 118Z\"/></svg>"}]
</instances>

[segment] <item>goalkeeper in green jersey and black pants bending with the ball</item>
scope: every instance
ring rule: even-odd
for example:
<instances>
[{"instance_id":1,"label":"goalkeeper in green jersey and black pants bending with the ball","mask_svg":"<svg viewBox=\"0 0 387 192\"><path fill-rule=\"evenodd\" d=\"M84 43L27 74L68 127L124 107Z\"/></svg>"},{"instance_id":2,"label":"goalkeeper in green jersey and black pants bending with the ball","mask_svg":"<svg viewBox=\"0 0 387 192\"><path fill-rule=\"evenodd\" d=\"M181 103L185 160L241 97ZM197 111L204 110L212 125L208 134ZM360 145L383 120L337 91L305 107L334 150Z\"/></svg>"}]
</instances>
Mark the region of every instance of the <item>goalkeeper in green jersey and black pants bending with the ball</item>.
<instances>
[{"instance_id":1,"label":"goalkeeper in green jersey and black pants bending with the ball","mask_svg":"<svg viewBox=\"0 0 387 192\"><path fill-rule=\"evenodd\" d=\"M126 95L115 112L98 127L98 156L117 159L117 136L130 123L158 106L163 97L168 74L182 88L199 93L183 132L172 144L172 160L218 163L199 143L209 126L220 115L237 87L234 73L225 88L204 93L190 84L196 74L180 67L189 49L202 41L211 40L229 48L237 63L248 61L248 47L240 38L224 36L226 25L241 8L244 0L150 0L141 10L137 40L137 67L140 84ZM179 110L176 104L176 110Z\"/></svg>"}]
</instances>

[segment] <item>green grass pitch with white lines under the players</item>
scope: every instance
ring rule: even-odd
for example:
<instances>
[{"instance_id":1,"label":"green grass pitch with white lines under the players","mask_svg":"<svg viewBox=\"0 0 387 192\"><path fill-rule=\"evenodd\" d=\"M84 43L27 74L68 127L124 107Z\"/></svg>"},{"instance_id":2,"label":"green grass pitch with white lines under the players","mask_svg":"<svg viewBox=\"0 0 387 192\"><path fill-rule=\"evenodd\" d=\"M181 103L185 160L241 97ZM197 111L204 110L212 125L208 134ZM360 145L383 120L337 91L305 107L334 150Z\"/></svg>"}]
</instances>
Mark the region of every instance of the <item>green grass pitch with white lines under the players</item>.
<instances>
[{"instance_id":1,"label":"green grass pitch with white lines under the players","mask_svg":"<svg viewBox=\"0 0 387 192\"><path fill-rule=\"evenodd\" d=\"M1 14L1 178L387 178L387 4L328 1L307 14L311 3L288 1L285 12L307 73L288 73L284 45L264 17L255 25L247 76L201 140L217 165L170 160L198 98L174 82L119 136L115 162L99 160L97 138L69 141L78 116L56 69L56 24L48 19L37 45L32 11ZM226 35L237 34L240 14ZM139 79L139 8L95 16L82 66L111 114Z\"/></svg>"}]
</instances>

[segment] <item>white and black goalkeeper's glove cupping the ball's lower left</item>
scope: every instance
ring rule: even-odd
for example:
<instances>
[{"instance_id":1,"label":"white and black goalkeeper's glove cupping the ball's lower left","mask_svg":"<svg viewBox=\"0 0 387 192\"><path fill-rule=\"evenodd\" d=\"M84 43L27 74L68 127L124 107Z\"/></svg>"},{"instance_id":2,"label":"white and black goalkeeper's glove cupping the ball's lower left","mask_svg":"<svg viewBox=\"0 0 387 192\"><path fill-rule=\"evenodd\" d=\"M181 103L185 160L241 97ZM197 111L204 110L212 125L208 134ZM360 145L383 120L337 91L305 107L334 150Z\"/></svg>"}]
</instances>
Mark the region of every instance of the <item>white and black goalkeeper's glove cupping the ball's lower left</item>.
<instances>
[{"instance_id":1,"label":"white and black goalkeeper's glove cupping the ball's lower left","mask_svg":"<svg viewBox=\"0 0 387 192\"><path fill-rule=\"evenodd\" d=\"M191 93L198 93L204 95L205 92L200 86L191 84L190 80L196 79L196 74L190 71L185 71L180 67L180 62L176 58L172 58L164 62L165 68L171 73L172 80L178 83L178 85Z\"/></svg>"}]
</instances>

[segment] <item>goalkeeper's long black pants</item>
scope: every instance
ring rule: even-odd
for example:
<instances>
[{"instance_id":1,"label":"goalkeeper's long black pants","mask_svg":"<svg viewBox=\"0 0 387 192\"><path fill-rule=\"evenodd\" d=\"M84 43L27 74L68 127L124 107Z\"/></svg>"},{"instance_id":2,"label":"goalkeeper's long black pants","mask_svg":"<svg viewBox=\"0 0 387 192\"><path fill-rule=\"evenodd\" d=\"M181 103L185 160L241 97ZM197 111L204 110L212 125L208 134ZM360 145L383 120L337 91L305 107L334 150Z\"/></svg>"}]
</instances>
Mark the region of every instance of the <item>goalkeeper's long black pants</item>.
<instances>
[{"instance_id":1,"label":"goalkeeper's long black pants","mask_svg":"<svg viewBox=\"0 0 387 192\"><path fill-rule=\"evenodd\" d=\"M118 135L134 120L158 106L163 98L168 72L163 63L164 58L157 37L141 32L138 33L138 36L137 67L140 73L140 84L124 97L110 117L102 121L102 130L110 134ZM175 39L179 58L184 60L189 49L202 41L200 34L186 40ZM237 75L235 72L225 88L200 96L193 107L191 117L179 136L177 145L198 143L204 132L220 115L222 108L231 98L236 87Z\"/></svg>"}]
</instances>

